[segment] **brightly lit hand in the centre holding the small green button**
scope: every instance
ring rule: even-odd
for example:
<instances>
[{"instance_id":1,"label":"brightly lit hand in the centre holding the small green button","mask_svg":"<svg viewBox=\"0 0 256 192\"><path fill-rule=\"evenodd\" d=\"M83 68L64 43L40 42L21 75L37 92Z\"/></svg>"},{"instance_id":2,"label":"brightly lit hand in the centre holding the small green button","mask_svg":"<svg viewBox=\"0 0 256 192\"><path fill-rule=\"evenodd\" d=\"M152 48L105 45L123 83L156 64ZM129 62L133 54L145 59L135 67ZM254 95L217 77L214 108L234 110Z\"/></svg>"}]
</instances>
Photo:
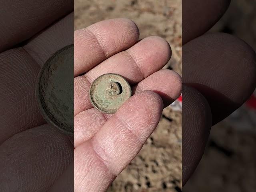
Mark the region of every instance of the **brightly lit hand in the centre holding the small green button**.
<instances>
[{"instance_id":1,"label":"brightly lit hand in the centre holding the small green button","mask_svg":"<svg viewBox=\"0 0 256 192\"><path fill-rule=\"evenodd\" d=\"M74 33L75 191L105 191L154 131L163 107L181 93L180 76L160 70L171 57L169 44L159 37L138 38L128 19ZM134 95L113 115L89 101L90 84L106 73L126 78Z\"/></svg>"}]
</instances>

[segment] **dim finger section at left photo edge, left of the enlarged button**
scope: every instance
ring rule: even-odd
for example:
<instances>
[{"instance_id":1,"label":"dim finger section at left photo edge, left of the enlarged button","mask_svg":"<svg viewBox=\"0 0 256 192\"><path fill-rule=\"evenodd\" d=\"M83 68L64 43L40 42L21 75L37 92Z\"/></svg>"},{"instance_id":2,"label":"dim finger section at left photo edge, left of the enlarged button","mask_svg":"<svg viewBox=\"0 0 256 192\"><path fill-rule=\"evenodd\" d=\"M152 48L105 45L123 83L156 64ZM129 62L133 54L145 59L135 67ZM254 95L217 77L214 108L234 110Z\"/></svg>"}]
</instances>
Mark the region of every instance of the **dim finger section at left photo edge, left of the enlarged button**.
<instances>
[{"instance_id":1,"label":"dim finger section at left photo edge, left of the enlarged button","mask_svg":"<svg viewBox=\"0 0 256 192\"><path fill-rule=\"evenodd\" d=\"M40 66L24 48L0 54L0 144L16 133L45 124L36 103Z\"/></svg>"}]
</instances>

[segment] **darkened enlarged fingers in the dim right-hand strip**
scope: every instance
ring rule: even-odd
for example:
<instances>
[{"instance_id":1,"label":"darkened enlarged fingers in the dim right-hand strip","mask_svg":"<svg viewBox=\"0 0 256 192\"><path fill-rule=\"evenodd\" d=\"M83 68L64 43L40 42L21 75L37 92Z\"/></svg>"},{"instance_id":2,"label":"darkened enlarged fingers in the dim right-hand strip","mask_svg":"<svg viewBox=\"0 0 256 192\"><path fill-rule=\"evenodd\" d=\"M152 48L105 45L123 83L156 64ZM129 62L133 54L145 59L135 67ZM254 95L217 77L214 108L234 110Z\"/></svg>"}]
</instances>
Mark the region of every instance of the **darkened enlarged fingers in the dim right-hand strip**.
<instances>
[{"instance_id":1,"label":"darkened enlarged fingers in the dim right-hand strip","mask_svg":"<svg viewBox=\"0 0 256 192\"><path fill-rule=\"evenodd\" d=\"M204 34L229 4L182 3L182 185L202 158L211 126L240 107L256 86L254 50L229 34Z\"/></svg>"}]
</instances>

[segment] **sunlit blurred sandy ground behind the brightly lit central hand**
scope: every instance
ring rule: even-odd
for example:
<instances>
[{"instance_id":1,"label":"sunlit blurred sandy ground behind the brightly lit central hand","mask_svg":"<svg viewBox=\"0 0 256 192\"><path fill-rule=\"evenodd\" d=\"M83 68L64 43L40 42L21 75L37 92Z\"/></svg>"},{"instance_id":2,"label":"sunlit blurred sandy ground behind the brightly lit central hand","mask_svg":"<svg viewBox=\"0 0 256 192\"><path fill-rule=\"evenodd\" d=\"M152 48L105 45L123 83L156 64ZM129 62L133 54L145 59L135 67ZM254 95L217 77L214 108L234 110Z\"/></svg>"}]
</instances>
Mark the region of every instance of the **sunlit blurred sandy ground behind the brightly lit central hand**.
<instances>
[{"instance_id":1,"label":"sunlit blurred sandy ground behind the brightly lit central hand","mask_svg":"<svg viewBox=\"0 0 256 192\"><path fill-rule=\"evenodd\" d=\"M181 0L74 0L78 30L110 18L129 18L140 39L160 36L172 48L164 68L182 73ZM85 53L86 54L86 53ZM108 192L180 192L182 178L182 112L178 102L164 109L154 133L140 153L116 178Z\"/></svg>"}]
</instances>

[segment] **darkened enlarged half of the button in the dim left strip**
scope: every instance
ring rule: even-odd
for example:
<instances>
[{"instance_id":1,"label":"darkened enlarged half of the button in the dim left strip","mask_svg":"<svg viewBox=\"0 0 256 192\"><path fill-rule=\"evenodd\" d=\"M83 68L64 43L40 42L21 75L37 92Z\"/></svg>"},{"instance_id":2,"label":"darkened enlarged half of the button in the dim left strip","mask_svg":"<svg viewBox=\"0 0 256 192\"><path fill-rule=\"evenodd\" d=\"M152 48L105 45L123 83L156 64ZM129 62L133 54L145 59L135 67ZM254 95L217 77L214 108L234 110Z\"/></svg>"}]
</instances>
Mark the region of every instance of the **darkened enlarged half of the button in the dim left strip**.
<instances>
[{"instance_id":1,"label":"darkened enlarged half of the button in the dim left strip","mask_svg":"<svg viewBox=\"0 0 256 192\"><path fill-rule=\"evenodd\" d=\"M74 45L58 50L46 61L38 75L36 98L49 124L74 134Z\"/></svg>"}]
</instances>

